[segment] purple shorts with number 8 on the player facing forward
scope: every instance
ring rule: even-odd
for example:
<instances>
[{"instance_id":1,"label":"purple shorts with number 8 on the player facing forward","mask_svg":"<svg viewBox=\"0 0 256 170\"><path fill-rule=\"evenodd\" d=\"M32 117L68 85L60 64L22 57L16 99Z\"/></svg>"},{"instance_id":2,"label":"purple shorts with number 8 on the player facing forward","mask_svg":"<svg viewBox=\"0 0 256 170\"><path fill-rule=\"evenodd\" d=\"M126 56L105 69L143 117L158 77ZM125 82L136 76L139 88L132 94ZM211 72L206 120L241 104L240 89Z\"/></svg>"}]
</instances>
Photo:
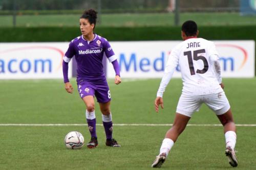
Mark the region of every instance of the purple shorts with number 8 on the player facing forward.
<instances>
[{"instance_id":1,"label":"purple shorts with number 8 on the player facing forward","mask_svg":"<svg viewBox=\"0 0 256 170\"><path fill-rule=\"evenodd\" d=\"M111 100L110 88L107 82L80 81L77 86L81 99L87 95L95 95L98 103L106 103Z\"/></svg>"}]
</instances>

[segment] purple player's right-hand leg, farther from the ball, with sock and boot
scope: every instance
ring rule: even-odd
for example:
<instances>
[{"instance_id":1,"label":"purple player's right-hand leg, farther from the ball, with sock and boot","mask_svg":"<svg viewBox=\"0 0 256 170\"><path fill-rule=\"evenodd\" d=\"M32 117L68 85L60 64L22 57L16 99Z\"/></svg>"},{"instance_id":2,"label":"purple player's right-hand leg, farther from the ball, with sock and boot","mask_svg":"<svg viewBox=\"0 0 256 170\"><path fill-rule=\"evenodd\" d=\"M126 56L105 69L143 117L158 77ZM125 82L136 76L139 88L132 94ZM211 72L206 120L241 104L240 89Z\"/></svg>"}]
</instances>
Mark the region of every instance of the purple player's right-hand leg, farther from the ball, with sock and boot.
<instances>
[{"instance_id":1,"label":"purple player's right-hand leg, farther from the ball, with sock and boot","mask_svg":"<svg viewBox=\"0 0 256 170\"><path fill-rule=\"evenodd\" d=\"M110 111L110 101L106 103L99 103L100 111L102 113L102 122L106 133L106 145L109 147L121 147L112 137L113 123L112 114Z\"/></svg>"}]
</instances>

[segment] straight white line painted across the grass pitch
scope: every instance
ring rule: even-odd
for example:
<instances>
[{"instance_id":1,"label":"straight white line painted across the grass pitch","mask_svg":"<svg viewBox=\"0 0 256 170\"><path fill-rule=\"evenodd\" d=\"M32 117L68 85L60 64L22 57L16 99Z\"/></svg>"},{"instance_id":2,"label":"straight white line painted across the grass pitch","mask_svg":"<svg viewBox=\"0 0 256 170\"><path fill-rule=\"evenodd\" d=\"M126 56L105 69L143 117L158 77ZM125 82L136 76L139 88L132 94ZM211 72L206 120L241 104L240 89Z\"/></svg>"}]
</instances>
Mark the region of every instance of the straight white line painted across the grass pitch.
<instances>
[{"instance_id":1,"label":"straight white line painted across the grass pitch","mask_svg":"<svg viewBox=\"0 0 256 170\"><path fill-rule=\"evenodd\" d=\"M102 124L96 124L103 126ZM173 124L113 124L113 126L172 126ZM87 124L0 124L0 126L87 126ZM221 124L187 124L187 126L222 126ZM256 124L237 124L236 126L256 127Z\"/></svg>"}]
</instances>

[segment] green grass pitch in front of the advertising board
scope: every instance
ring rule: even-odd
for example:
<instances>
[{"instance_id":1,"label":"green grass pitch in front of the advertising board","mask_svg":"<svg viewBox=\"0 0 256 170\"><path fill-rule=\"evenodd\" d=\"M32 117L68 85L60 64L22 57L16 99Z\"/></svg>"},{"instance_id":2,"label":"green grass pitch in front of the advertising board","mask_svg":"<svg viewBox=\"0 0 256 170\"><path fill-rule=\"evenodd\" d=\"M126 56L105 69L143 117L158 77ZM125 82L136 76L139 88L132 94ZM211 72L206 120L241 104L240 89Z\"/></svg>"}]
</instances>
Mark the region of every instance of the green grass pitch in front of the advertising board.
<instances>
[{"instance_id":1,"label":"green grass pitch in front of the advertising board","mask_svg":"<svg viewBox=\"0 0 256 170\"><path fill-rule=\"evenodd\" d=\"M236 124L256 124L256 79L223 79ZM109 80L114 124L172 124L181 93L180 79L173 79L164 94L164 109L157 114L154 100L160 79ZM85 106L65 91L62 80L1 80L0 169L152 169L169 126L114 126L121 148L104 144L102 126L97 126L96 149L68 150L63 139L79 131L88 142L86 126L3 126L3 124L86 124ZM96 105L97 124L101 114ZM205 105L189 124L219 124ZM256 127L237 127L236 169L256 169ZM175 143L162 169L232 169L224 154L221 126L188 126Z\"/></svg>"}]
</instances>

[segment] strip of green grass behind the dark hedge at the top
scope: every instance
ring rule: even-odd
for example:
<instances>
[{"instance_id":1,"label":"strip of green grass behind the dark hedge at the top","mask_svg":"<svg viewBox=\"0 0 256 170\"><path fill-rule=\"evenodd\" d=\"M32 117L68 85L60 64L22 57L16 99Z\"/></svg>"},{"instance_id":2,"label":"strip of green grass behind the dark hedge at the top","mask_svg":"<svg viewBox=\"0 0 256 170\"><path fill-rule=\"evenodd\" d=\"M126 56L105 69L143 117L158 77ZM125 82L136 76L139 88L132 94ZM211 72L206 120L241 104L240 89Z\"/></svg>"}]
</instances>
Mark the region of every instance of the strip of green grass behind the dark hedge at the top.
<instances>
[{"instance_id":1,"label":"strip of green grass behind the dark hedge at the top","mask_svg":"<svg viewBox=\"0 0 256 170\"><path fill-rule=\"evenodd\" d=\"M80 15L18 15L18 27L73 27L79 26ZM98 26L136 27L136 26L174 26L173 13L150 14L102 14ZM239 13L181 13L180 23L195 20L199 26L256 25L255 16L241 16ZM12 27L12 16L0 16L0 27Z\"/></svg>"}]
</instances>

